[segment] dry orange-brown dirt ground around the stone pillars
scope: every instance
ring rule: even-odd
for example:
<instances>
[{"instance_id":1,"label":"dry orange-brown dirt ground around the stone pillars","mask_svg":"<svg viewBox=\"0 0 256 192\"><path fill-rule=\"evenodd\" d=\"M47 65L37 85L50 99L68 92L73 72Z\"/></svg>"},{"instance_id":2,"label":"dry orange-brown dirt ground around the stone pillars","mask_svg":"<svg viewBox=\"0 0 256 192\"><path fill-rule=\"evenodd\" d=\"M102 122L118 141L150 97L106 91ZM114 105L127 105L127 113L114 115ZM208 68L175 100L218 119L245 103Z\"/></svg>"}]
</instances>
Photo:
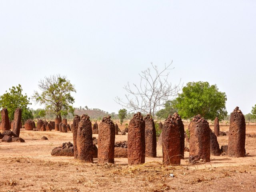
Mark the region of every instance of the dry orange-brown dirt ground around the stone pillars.
<instances>
[{"instance_id":1,"label":"dry orange-brown dirt ground around the stone pillars","mask_svg":"<svg viewBox=\"0 0 256 192\"><path fill-rule=\"evenodd\" d=\"M228 131L228 127L220 130ZM247 126L246 133L256 134L256 126ZM42 136L48 140L41 140ZM256 191L256 138L246 137L248 155L244 158L211 156L209 163L189 165L185 152L181 166L172 167L162 166L160 146L158 157L146 158L140 166L128 166L127 158L115 158L113 165L98 165L97 159L90 164L51 156L54 147L72 142L70 132L22 130L20 137L25 143L0 143L1 192ZM127 135L116 136L118 140L127 140ZM228 136L218 137L218 142L227 144Z\"/></svg>"}]
</instances>

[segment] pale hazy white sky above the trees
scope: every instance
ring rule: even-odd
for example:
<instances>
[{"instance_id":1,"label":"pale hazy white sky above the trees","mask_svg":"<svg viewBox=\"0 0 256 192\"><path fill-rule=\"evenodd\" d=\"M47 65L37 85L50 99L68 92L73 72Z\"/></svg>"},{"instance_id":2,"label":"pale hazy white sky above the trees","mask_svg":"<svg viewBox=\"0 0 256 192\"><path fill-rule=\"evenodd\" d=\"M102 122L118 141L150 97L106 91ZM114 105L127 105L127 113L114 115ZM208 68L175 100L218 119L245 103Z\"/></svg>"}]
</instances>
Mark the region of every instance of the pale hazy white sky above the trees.
<instances>
[{"instance_id":1,"label":"pale hazy white sky above the trees","mask_svg":"<svg viewBox=\"0 0 256 192\"><path fill-rule=\"evenodd\" d=\"M67 75L75 107L121 107L127 82L173 60L170 82L208 81L228 112L256 104L255 0L0 0L0 95ZM31 108L38 108L32 105Z\"/></svg>"}]
</instances>

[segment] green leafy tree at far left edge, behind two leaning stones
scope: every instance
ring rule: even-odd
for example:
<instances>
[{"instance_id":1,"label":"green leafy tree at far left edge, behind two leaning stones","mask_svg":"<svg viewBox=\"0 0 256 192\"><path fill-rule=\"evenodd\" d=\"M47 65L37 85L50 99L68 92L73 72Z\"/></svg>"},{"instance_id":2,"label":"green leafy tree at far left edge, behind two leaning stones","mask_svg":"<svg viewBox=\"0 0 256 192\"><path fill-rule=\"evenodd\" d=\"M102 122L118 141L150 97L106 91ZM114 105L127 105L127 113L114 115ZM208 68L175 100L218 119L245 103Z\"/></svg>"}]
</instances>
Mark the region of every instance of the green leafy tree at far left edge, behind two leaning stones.
<instances>
[{"instance_id":1,"label":"green leafy tree at far left edge, behind two leaning stones","mask_svg":"<svg viewBox=\"0 0 256 192\"><path fill-rule=\"evenodd\" d=\"M0 108L7 108L11 121L14 119L15 109L21 108L22 123L24 123L28 119L33 119L32 110L28 108L28 105L31 104L29 100L27 94L22 94L22 87L18 84L18 86L12 86L12 88L9 88L9 92L6 91L5 94L0 96Z\"/></svg>"}]
</instances>

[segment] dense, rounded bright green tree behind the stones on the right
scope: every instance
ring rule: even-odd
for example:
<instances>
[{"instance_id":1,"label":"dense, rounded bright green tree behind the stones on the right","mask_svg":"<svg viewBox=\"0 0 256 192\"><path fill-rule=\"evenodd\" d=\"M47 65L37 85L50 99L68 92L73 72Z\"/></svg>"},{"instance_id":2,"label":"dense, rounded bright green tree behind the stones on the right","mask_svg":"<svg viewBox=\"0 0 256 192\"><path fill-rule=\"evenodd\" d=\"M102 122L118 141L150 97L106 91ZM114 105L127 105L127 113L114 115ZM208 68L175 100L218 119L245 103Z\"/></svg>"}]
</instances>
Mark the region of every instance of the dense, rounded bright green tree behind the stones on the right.
<instances>
[{"instance_id":1,"label":"dense, rounded bright green tree behind the stones on the right","mask_svg":"<svg viewBox=\"0 0 256 192\"><path fill-rule=\"evenodd\" d=\"M188 82L176 100L178 113L185 119L201 114L206 119L214 120L217 116L222 120L227 115L226 93L208 82Z\"/></svg>"}]
</instances>

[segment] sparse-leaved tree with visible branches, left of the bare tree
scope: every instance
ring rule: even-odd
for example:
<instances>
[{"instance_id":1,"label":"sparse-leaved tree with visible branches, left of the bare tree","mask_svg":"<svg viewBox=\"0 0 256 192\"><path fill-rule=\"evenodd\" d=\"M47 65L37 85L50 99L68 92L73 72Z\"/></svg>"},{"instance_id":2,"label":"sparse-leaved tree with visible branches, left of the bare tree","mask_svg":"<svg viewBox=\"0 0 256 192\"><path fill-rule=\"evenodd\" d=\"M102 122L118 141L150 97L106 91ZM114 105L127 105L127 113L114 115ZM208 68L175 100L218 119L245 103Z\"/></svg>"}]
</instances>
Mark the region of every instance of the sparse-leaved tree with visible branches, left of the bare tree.
<instances>
[{"instance_id":1,"label":"sparse-leaved tree with visible branches, left of the bare tree","mask_svg":"<svg viewBox=\"0 0 256 192\"><path fill-rule=\"evenodd\" d=\"M67 116L68 112L74 114L74 98L71 96L72 92L76 92L74 85L70 83L70 80L66 76L53 75L45 77L39 81L39 89L34 92L32 98L39 104L44 104L46 110L54 113L56 117Z\"/></svg>"}]
</instances>

